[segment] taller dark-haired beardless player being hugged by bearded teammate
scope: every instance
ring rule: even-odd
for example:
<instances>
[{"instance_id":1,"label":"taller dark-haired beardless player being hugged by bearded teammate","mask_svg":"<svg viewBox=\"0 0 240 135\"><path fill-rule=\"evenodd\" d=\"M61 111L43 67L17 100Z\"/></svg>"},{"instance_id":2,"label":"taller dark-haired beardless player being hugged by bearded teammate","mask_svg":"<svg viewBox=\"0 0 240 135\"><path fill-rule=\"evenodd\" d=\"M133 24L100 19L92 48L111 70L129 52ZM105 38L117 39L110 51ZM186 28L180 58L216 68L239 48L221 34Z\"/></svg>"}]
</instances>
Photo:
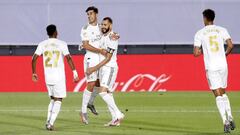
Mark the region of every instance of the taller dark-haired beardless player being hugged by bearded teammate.
<instances>
[{"instance_id":1,"label":"taller dark-haired beardless player being hugged by bearded teammate","mask_svg":"<svg viewBox=\"0 0 240 135\"><path fill-rule=\"evenodd\" d=\"M88 24L81 30L82 45L80 46L80 49L84 48L86 50L84 56L84 73L86 73L87 68L96 66L100 62L100 54L107 54L106 50L100 48L102 34L100 25L97 22L98 9L91 6L87 8L86 13L88 16ZM114 33L111 38L117 40L119 36ZM80 112L81 121L84 124L88 124L87 108L89 108L93 114L98 115L93 105L100 86L98 74L98 71L89 75L85 74L87 78L87 88L83 92L82 111Z\"/></svg>"}]
</instances>

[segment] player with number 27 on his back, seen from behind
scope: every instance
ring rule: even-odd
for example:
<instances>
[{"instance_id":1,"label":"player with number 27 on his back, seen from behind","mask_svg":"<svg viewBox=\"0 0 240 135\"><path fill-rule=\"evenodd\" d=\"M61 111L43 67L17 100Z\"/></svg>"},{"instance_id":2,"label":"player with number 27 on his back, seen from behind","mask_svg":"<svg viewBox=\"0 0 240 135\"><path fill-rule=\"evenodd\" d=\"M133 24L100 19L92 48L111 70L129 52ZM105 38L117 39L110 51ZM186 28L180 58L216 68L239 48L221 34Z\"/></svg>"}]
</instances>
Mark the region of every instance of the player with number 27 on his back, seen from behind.
<instances>
[{"instance_id":1,"label":"player with number 27 on his back, seen from behind","mask_svg":"<svg viewBox=\"0 0 240 135\"><path fill-rule=\"evenodd\" d=\"M79 80L77 71L69 54L67 43L57 39L57 28L55 25L48 25L47 34L49 38L38 44L32 58L32 80L38 81L36 73L36 63L40 55L43 54L43 66L45 82L50 97L48 105L48 115L46 122L47 130L54 130L54 122L61 108L62 100L66 97L66 78L64 70L64 57L73 71L74 81Z\"/></svg>"}]
</instances>

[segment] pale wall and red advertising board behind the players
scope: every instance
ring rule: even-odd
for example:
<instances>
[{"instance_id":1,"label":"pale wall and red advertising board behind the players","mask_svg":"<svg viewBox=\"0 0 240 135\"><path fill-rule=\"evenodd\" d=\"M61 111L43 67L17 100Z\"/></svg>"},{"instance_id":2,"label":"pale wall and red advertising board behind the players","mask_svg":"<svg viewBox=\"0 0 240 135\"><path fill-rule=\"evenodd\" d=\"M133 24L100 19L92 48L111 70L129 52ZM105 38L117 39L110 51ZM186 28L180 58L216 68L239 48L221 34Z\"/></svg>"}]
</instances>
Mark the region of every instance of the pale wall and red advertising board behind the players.
<instances>
[{"instance_id":1,"label":"pale wall and red advertising board behind the players","mask_svg":"<svg viewBox=\"0 0 240 135\"><path fill-rule=\"evenodd\" d=\"M114 31L120 34L115 85L119 91L207 90L202 57L192 56L193 38L204 26L206 8L215 10L215 24L227 28L233 39L229 88L239 89L238 0L0 0L0 90L45 91L41 60L38 84L31 82L30 63L37 44L47 38L48 24L57 25L59 39L68 43L82 77L73 84L66 67L69 91L82 90L84 50L79 51L78 45L88 6L99 9L99 22L112 17Z\"/></svg>"}]
</instances>

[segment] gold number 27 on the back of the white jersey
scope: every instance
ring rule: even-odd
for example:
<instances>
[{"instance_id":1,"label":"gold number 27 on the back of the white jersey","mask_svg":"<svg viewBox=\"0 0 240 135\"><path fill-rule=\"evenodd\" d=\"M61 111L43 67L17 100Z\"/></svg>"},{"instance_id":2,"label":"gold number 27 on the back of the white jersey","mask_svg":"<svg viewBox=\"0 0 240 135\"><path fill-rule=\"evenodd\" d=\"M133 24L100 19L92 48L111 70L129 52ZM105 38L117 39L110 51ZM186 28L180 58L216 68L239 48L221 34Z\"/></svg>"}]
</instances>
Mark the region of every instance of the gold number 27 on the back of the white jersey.
<instances>
[{"instance_id":1,"label":"gold number 27 on the back of the white jersey","mask_svg":"<svg viewBox=\"0 0 240 135\"><path fill-rule=\"evenodd\" d=\"M53 56L56 57L53 57ZM58 66L58 60L60 57L60 52L59 51L46 51L44 52L44 56L46 57L44 63L45 63L45 67L57 67ZM50 63L50 61L53 60L53 64Z\"/></svg>"}]
</instances>

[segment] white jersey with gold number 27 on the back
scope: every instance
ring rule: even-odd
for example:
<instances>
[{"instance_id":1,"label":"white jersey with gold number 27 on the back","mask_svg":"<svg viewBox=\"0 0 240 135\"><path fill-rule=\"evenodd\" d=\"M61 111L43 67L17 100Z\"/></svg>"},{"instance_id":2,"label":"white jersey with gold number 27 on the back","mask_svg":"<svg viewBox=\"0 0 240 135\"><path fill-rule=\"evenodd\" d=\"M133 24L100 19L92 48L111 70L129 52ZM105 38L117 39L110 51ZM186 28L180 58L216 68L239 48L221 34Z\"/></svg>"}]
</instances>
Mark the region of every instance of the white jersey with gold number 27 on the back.
<instances>
[{"instance_id":1,"label":"white jersey with gold number 27 on the back","mask_svg":"<svg viewBox=\"0 0 240 135\"><path fill-rule=\"evenodd\" d=\"M45 81L56 84L65 80L64 56L69 54L67 43L56 38L49 38L38 44L35 52L43 54Z\"/></svg>"}]
</instances>

